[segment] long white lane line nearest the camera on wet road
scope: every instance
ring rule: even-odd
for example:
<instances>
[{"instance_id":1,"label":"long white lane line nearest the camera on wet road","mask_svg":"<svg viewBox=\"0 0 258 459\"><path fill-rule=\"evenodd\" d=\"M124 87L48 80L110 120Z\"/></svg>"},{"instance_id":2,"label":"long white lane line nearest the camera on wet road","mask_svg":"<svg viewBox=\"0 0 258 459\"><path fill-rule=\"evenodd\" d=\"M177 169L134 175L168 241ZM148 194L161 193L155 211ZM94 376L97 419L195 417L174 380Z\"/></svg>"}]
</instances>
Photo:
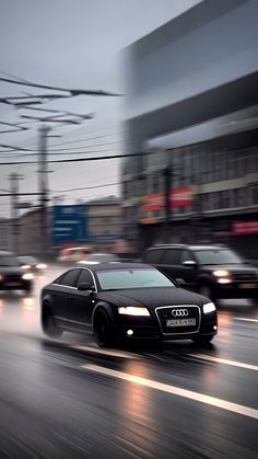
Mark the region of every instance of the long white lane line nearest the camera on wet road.
<instances>
[{"instance_id":1,"label":"long white lane line nearest the camera on wet road","mask_svg":"<svg viewBox=\"0 0 258 459\"><path fill-rule=\"evenodd\" d=\"M206 395L204 393L194 392L191 390L181 389L176 386L168 386L163 382L153 381L152 379L141 378L139 376L130 375L124 371L113 370L110 368L99 367L97 365L86 364L81 365L81 368L113 378L122 379L124 381L145 386L151 389L156 389L163 392L172 393L173 395L195 400L200 403L206 403L208 405L220 408L222 410L231 411L232 413L237 413L242 414L243 416L258 420L258 410L255 410L249 406L238 405L237 403L227 402L226 400L216 399L211 395Z\"/></svg>"}]
</instances>

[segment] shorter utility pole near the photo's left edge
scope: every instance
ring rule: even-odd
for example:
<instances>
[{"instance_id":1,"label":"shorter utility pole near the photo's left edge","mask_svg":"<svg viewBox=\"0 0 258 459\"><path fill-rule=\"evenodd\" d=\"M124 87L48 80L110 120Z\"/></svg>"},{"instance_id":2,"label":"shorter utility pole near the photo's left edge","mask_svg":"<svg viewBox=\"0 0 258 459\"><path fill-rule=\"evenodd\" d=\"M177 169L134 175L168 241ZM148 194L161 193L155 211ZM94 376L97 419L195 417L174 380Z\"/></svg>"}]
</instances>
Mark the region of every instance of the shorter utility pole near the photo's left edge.
<instances>
[{"instance_id":1,"label":"shorter utility pole near the photo's left edge","mask_svg":"<svg viewBox=\"0 0 258 459\"><path fill-rule=\"evenodd\" d=\"M9 175L10 187L11 187L11 245L12 250L19 253L19 236L20 236L20 222L19 222L19 180L23 179L17 173Z\"/></svg>"}]
</instances>

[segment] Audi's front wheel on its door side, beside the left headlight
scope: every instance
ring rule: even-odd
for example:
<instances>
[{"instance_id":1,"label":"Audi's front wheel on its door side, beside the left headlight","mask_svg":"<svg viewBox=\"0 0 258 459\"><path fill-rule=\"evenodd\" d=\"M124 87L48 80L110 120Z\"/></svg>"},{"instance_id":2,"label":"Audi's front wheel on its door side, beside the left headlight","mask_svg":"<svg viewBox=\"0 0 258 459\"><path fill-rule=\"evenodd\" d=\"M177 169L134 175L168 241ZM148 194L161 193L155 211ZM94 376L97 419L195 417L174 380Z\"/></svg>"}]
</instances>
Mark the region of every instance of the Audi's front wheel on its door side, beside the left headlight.
<instances>
[{"instance_id":1,"label":"Audi's front wheel on its door side, beside the left headlight","mask_svg":"<svg viewBox=\"0 0 258 459\"><path fill-rule=\"evenodd\" d=\"M105 309L101 308L94 315L94 335L99 347L109 347L114 344L112 335L112 320Z\"/></svg>"}]
</instances>

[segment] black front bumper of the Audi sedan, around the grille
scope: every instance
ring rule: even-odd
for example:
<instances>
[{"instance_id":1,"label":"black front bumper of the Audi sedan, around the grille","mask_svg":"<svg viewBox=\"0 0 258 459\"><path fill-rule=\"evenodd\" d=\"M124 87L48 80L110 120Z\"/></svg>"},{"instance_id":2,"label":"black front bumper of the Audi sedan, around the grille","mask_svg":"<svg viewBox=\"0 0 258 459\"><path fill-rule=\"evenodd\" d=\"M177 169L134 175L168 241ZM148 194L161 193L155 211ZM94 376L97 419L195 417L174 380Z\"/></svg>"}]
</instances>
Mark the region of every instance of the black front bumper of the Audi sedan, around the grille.
<instances>
[{"instance_id":1,"label":"black front bumper of the Audi sedan, around the grille","mask_svg":"<svg viewBox=\"0 0 258 459\"><path fill-rule=\"evenodd\" d=\"M120 315L116 318L114 335L117 338L128 340L194 340L198 336L218 333L216 311L203 314L200 310L199 318L197 331L189 330L188 332L184 328L184 332L178 329L165 332L155 311L151 311L150 317ZM128 333L129 331L130 333Z\"/></svg>"}]
</instances>

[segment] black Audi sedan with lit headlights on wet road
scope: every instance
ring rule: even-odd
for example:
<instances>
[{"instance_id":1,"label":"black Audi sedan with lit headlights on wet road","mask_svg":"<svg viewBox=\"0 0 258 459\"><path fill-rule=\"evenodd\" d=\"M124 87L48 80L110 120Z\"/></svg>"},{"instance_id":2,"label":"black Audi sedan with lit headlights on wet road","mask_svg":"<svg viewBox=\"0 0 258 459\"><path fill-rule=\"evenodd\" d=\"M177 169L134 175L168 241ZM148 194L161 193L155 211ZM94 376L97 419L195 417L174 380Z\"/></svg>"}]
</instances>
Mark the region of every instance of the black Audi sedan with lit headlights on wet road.
<instances>
[{"instance_id":1,"label":"black Audi sedan with lit headlights on wet road","mask_svg":"<svg viewBox=\"0 0 258 459\"><path fill-rule=\"evenodd\" d=\"M43 288L40 302L47 335L93 332L98 346L133 338L204 344L218 331L216 309L208 298L137 263L69 269Z\"/></svg>"}]
</instances>

